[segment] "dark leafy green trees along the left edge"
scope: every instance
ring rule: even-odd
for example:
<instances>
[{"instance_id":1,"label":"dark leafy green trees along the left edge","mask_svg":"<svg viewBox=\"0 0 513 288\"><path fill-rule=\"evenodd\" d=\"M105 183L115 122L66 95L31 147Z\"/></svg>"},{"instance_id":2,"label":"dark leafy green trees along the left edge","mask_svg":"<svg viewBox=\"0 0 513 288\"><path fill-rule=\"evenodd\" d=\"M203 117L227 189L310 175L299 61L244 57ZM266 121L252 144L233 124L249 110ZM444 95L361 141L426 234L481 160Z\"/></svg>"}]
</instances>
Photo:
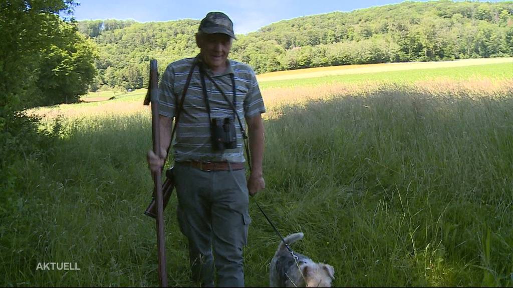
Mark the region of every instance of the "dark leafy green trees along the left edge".
<instances>
[{"instance_id":1,"label":"dark leafy green trees along the left edge","mask_svg":"<svg viewBox=\"0 0 513 288\"><path fill-rule=\"evenodd\" d=\"M1 171L9 171L6 167L19 155L30 157L45 152L41 147L48 143L48 134L38 132L38 118L25 115L23 110L36 105L37 100L53 97L53 91L71 87L77 90L66 92L66 96L84 93L93 74L93 44L76 33L70 18L74 6L73 0L0 2ZM63 73L52 75L54 69ZM34 151L39 152L33 154ZM15 182L16 177L0 173L3 195L19 193L4 184Z\"/></svg>"}]
</instances>

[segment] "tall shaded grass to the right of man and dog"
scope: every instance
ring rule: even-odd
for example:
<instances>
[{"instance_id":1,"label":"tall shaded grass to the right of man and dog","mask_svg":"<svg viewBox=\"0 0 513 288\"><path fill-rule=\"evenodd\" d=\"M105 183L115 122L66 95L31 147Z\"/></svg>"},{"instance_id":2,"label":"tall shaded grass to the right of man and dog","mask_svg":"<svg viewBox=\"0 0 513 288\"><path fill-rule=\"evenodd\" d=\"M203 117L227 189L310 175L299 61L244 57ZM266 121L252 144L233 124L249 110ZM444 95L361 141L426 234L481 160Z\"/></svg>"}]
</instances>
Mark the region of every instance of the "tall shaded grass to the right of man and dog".
<instances>
[{"instance_id":1,"label":"tall shaded grass to the right of man and dog","mask_svg":"<svg viewBox=\"0 0 513 288\"><path fill-rule=\"evenodd\" d=\"M259 201L305 233L301 251L335 263L336 285L511 286L509 89L388 86L284 108L267 123Z\"/></svg>"}]
</instances>

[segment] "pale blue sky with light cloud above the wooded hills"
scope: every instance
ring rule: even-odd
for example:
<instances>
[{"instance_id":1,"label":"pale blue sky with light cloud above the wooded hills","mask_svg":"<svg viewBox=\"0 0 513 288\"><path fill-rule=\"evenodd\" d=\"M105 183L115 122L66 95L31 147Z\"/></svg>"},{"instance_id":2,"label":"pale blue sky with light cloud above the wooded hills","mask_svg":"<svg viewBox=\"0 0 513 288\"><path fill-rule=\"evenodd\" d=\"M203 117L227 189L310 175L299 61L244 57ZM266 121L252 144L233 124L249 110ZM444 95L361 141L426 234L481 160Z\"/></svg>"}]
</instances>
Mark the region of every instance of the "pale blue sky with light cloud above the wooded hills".
<instances>
[{"instance_id":1,"label":"pale blue sky with light cloud above the wooded hills","mask_svg":"<svg viewBox=\"0 0 513 288\"><path fill-rule=\"evenodd\" d=\"M402 0L78 0L77 20L134 19L137 22L201 19L209 11L225 12L236 34L246 34L284 19L403 2ZM491 1L496 2L496 1Z\"/></svg>"}]
</instances>

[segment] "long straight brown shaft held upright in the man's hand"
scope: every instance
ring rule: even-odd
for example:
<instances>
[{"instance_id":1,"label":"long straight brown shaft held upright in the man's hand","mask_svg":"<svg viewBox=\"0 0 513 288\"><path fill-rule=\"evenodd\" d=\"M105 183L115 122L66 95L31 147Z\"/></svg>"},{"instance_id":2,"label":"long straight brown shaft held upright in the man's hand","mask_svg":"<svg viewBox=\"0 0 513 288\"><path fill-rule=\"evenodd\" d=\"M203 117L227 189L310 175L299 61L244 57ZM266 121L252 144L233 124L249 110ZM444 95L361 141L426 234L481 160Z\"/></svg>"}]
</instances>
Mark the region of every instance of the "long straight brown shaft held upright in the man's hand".
<instances>
[{"instance_id":1,"label":"long straight brown shaft held upright in the man's hand","mask_svg":"<svg viewBox=\"0 0 513 288\"><path fill-rule=\"evenodd\" d=\"M149 105L151 100L151 128L153 153L160 155L160 123L159 123L159 76L157 74L157 60L150 60L150 81L148 92L144 99L144 105ZM150 99L151 98L151 99ZM153 173L153 199L156 198L156 224L157 224L157 249L159 250L159 281L161 287L167 287L166 274L166 248L164 242L164 203L162 195L162 171Z\"/></svg>"}]
</instances>

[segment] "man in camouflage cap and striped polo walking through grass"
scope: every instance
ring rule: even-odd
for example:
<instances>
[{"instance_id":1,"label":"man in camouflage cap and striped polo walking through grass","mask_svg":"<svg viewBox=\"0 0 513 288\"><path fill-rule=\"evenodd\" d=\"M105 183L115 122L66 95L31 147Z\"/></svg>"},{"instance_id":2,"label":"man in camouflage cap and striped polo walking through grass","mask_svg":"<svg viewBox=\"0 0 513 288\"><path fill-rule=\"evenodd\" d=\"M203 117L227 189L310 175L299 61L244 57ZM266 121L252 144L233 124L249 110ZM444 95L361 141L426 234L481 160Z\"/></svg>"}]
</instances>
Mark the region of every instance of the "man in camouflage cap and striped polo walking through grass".
<instances>
[{"instance_id":1,"label":"man in camouflage cap and striped polo walking through grass","mask_svg":"<svg viewBox=\"0 0 513 288\"><path fill-rule=\"evenodd\" d=\"M253 70L228 59L233 39L233 24L224 13L210 12L201 21L196 33L200 54L170 64L162 76L161 155L148 152L150 169L162 169L170 145L172 118L180 109L190 75L173 142L174 178L177 218L189 240L193 280L201 286L214 285L214 266L218 286L244 286L242 248L251 221L248 194L255 195L265 188L261 117L265 107ZM213 145L219 139L213 139L211 127L215 127L214 122L221 123L227 129L221 130L229 131L230 122L226 119L232 119L236 143ZM241 131L241 125L243 129L246 126L244 119L252 168L247 181Z\"/></svg>"}]
</instances>

